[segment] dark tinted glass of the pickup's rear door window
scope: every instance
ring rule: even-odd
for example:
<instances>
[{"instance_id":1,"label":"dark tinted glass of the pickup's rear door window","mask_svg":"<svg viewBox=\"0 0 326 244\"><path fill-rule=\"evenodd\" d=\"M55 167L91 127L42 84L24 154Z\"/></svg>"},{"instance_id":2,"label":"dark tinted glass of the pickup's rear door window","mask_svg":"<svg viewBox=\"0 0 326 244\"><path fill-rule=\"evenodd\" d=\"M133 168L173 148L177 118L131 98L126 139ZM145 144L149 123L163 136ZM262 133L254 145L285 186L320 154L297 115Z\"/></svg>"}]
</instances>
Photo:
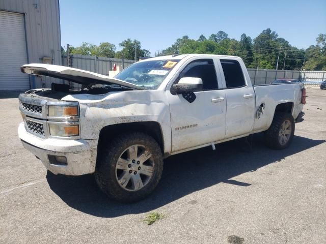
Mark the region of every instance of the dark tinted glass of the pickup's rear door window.
<instances>
[{"instance_id":1,"label":"dark tinted glass of the pickup's rear door window","mask_svg":"<svg viewBox=\"0 0 326 244\"><path fill-rule=\"evenodd\" d=\"M235 88L245 86L241 66L236 60L221 59L226 87Z\"/></svg>"}]
</instances>

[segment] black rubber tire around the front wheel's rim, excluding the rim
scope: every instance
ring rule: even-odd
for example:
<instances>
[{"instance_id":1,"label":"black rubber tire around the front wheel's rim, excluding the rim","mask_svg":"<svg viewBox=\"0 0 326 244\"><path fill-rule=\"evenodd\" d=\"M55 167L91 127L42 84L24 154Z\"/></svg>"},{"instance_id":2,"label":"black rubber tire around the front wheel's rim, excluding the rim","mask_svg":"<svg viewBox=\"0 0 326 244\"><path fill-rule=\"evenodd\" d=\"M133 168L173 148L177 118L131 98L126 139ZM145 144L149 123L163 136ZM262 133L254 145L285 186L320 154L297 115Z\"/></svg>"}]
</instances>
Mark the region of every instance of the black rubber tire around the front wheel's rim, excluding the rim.
<instances>
[{"instance_id":1,"label":"black rubber tire around the front wheel's rim, excluding the rim","mask_svg":"<svg viewBox=\"0 0 326 244\"><path fill-rule=\"evenodd\" d=\"M116 165L124 151L132 145L142 145L150 152L151 156L146 162L152 163L153 173L146 185L140 190L130 191L119 184ZM108 143L107 147L102 149L99 154L95 179L99 188L111 199L120 202L137 202L148 196L161 178L163 170L162 151L158 143L147 134L141 132L120 134ZM124 171L124 173L126 172Z\"/></svg>"}]
</instances>

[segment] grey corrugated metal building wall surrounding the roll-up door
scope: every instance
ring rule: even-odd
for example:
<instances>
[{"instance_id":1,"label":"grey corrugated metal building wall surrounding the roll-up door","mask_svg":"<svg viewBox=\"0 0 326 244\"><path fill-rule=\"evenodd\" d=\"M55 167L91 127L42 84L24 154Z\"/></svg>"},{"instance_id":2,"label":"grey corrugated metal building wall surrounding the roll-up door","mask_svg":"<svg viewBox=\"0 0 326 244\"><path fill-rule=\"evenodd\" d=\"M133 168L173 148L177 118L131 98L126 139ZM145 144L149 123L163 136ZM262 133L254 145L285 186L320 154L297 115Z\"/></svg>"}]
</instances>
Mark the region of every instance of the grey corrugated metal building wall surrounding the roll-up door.
<instances>
[{"instance_id":1,"label":"grey corrugated metal building wall surrounding the roll-up door","mask_svg":"<svg viewBox=\"0 0 326 244\"><path fill-rule=\"evenodd\" d=\"M24 14L28 63L50 57L51 64L62 64L59 0L0 0L0 10ZM52 81L30 77L31 88L49 87Z\"/></svg>"}]
</instances>

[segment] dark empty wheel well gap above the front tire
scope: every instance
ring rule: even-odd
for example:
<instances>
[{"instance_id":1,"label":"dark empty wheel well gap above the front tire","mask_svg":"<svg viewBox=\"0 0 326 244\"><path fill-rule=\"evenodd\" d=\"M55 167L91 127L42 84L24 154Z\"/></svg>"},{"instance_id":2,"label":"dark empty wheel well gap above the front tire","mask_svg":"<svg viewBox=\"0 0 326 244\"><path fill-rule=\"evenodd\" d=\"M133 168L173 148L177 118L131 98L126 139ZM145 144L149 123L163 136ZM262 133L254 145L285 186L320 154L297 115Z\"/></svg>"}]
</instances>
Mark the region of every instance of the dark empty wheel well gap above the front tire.
<instances>
[{"instance_id":1,"label":"dark empty wheel well gap above the front tire","mask_svg":"<svg viewBox=\"0 0 326 244\"><path fill-rule=\"evenodd\" d=\"M155 121L132 122L105 126L100 131L98 149L100 150L101 146L106 144L102 142L110 140L116 137L118 134L135 131L143 132L153 137L161 147L162 153L164 153L162 130L160 125Z\"/></svg>"}]
</instances>

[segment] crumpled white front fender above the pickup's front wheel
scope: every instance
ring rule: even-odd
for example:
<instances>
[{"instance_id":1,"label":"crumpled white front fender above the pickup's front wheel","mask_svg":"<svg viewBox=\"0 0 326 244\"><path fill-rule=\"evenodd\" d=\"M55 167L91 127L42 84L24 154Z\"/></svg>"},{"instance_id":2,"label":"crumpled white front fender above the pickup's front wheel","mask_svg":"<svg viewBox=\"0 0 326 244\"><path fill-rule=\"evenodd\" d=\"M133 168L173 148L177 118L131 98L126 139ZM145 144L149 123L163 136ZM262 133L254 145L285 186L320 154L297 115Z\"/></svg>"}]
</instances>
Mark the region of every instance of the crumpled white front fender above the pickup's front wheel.
<instances>
[{"instance_id":1,"label":"crumpled white front fender above the pickup's front wheel","mask_svg":"<svg viewBox=\"0 0 326 244\"><path fill-rule=\"evenodd\" d=\"M105 95L69 95L80 104L80 137L98 139L102 128L144 121L157 122L165 151L171 151L170 109L165 90L131 90Z\"/></svg>"}]
</instances>

